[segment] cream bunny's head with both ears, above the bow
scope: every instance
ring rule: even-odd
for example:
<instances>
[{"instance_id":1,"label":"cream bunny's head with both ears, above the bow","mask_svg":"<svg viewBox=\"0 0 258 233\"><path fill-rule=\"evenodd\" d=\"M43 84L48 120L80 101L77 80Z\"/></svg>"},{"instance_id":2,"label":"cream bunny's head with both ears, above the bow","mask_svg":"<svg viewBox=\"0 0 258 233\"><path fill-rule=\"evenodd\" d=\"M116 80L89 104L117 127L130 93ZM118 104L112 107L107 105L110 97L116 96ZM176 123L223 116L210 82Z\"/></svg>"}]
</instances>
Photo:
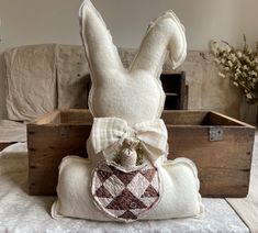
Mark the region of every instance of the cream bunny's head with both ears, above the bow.
<instances>
[{"instance_id":1,"label":"cream bunny's head with both ears, above the bow","mask_svg":"<svg viewBox=\"0 0 258 233\"><path fill-rule=\"evenodd\" d=\"M150 23L128 69L90 0L80 8L80 25L92 79L89 108L93 116L117 116L130 125L158 119L165 103L159 80L162 64L169 55L177 67L187 54L183 26L175 13L168 11Z\"/></svg>"}]
</instances>

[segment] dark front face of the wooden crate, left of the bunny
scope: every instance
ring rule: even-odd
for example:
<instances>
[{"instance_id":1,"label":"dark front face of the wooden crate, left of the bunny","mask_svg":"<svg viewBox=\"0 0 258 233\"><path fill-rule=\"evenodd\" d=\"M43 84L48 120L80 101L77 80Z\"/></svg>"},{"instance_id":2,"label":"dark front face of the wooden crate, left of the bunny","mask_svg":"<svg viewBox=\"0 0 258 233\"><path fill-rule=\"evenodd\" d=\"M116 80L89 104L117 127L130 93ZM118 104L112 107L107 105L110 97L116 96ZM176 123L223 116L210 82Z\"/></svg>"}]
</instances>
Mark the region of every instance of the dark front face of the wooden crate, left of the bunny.
<instances>
[{"instance_id":1,"label":"dark front face of the wooden crate, left of the bunny","mask_svg":"<svg viewBox=\"0 0 258 233\"><path fill-rule=\"evenodd\" d=\"M55 195L61 159L67 155L87 157L90 130L87 124L27 125L30 195Z\"/></svg>"}]
</instances>

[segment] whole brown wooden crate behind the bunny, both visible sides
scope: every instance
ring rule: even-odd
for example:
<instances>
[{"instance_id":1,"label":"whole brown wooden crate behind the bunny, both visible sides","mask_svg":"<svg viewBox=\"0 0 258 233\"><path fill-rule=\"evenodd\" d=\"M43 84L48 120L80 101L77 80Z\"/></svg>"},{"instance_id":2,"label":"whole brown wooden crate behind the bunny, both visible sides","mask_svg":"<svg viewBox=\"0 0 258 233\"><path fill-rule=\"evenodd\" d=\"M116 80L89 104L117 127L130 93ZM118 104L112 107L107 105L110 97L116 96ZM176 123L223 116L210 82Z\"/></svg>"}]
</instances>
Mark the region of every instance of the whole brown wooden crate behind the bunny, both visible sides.
<instances>
[{"instance_id":1,"label":"whole brown wooden crate behind the bunny, both visible sides","mask_svg":"<svg viewBox=\"0 0 258 233\"><path fill-rule=\"evenodd\" d=\"M206 111L165 111L169 158L188 157L199 169L203 197L246 197L255 127ZM55 111L27 124L30 195L55 195L58 165L67 155L87 157L92 116L88 110Z\"/></svg>"}]
</instances>

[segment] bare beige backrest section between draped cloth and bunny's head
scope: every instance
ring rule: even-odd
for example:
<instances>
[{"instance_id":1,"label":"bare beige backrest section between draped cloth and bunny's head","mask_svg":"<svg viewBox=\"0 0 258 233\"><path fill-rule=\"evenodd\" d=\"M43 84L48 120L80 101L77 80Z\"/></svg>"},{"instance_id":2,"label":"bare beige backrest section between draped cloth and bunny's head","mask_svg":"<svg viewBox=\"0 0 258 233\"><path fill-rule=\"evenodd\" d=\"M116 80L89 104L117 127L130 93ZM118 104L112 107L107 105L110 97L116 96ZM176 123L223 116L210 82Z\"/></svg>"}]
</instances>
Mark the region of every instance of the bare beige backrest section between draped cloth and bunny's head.
<instances>
[{"instance_id":1,"label":"bare beige backrest section between draped cloth and bunny's head","mask_svg":"<svg viewBox=\"0 0 258 233\"><path fill-rule=\"evenodd\" d=\"M57 46L58 109L87 109L90 81L82 46Z\"/></svg>"}]
</instances>

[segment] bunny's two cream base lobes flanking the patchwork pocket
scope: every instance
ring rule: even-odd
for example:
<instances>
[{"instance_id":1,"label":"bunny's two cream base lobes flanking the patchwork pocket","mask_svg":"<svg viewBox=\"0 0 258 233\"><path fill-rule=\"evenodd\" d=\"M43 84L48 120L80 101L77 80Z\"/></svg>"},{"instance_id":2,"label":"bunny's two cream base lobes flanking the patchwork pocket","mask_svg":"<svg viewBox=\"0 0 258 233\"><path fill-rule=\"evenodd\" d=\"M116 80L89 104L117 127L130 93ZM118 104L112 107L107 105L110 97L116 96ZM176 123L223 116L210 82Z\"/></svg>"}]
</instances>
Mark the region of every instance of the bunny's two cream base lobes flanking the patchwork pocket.
<instances>
[{"instance_id":1,"label":"bunny's two cream base lobes flanking the patchwork pocket","mask_svg":"<svg viewBox=\"0 0 258 233\"><path fill-rule=\"evenodd\" d=\"M58 200L52 207L52 217L70 217L97 221L117 219L100 211L90 191L92 170L89 159L67 156L59 167ZM159 168L162 195L159 203L139 220L201 217L203 206L199 195L199 180L194 164L187 158L164 163Z\"/></svg>"}]
</instances>

